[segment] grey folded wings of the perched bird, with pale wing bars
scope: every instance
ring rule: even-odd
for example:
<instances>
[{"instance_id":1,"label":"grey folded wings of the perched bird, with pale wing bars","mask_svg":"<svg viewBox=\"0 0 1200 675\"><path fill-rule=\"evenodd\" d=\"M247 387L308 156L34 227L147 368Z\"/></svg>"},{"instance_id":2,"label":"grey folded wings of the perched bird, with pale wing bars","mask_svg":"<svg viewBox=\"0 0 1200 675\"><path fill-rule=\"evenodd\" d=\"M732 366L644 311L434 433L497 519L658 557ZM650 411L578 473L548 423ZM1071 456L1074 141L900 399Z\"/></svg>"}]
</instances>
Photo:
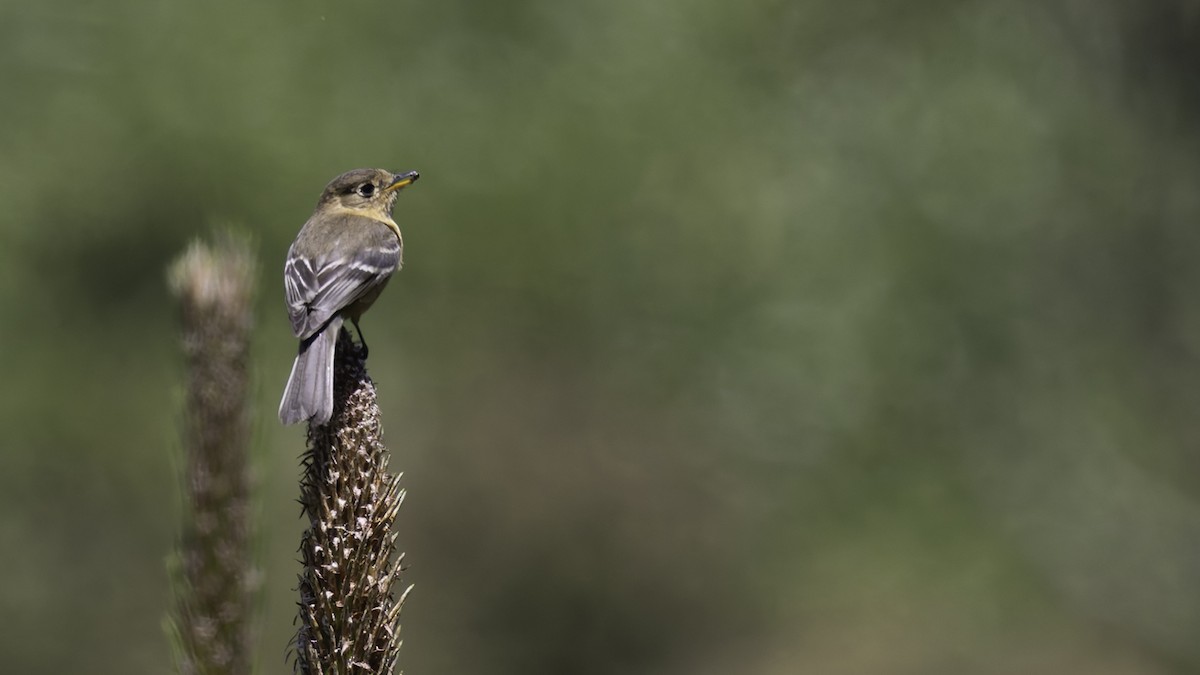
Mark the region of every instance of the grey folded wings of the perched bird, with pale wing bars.
<instances>
[{"instance_id":1,"label":"grey folded wings of the perched bird, with pale wing bars","mask_svg":"<svg viewBox=\"0 0 1200 675\"><path fill-rule=\"evenodd\" d=\"M386 237L370 238L368 246L335 247L332 255L320 258L305 257L293 245L283 268L283 287L296 338L305 340L320 330L335 313L354 304L396 270L401 243L390 231L385 232ZM359 241L361 244L362 239Z\"/></svg>"}]
</instances>

